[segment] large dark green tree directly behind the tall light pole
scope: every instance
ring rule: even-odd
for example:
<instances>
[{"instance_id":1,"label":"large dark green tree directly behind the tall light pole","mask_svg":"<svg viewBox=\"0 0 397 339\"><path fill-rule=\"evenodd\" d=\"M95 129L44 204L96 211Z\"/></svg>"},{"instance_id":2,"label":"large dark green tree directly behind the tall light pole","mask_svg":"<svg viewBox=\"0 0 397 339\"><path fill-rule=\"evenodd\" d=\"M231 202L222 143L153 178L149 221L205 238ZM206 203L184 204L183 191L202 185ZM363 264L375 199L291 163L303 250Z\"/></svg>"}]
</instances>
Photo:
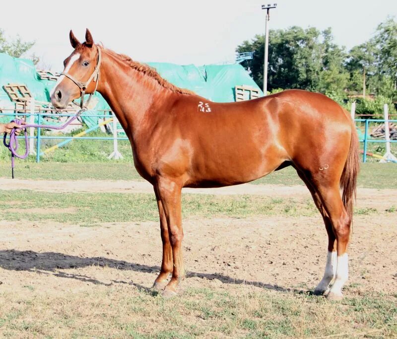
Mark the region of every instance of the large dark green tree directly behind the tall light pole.
<instances>
[{"instance_id":1,"label":"large dark green tree directly behind the tall light pole","mask_svg":"<svg viewBox=\"0 0 397 339\"><path fill-rule=\"evenodd\" d=\"M254 51L253 60L243 62L259 86L263 86L264 37L244 41L237 52ZM312 91L342 91L348 74L343 68L345 52L333 43L331 28L293 26L270 30L268 88L300 88Z\"/></svg>"}]
</instances>

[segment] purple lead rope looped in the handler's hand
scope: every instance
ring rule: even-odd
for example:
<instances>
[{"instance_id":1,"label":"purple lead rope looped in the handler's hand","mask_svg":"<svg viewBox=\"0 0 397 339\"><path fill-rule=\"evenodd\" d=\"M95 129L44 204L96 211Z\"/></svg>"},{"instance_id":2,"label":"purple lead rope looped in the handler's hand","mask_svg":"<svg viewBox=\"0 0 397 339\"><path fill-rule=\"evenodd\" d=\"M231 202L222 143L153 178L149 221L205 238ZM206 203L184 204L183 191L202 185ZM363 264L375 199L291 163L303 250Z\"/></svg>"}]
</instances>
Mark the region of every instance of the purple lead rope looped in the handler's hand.
<instances>
[{"instance_id":1,"label":"purple lead rope looped in the handler's hand","mask_svg":"<svg viewBox=\"0 0 397 339\"><path fill-rule=\"evenodd\" d=\"M51 129L51 130L63 130L67 125L69 125L72 121L76 120L78 118L78 116L86 111L87 109L84 107L81 110L79 110L76 115L72 118L70 118L69 120L66 121L65 124L61 125L61 126L50 126L50 125L36 125L36 124L28 124L28 125L21 125L22 120L20 119L15 119L12 120L11 122L14 122L18 125L20 125L21 127L14 127L10 134L9 134L9 142L7 143L6 141L6 137L7 137L7 133L4 133L4 137L3 137L3 144L5 147L7 147L9 149L9 151L11 152L11 173L12 173L12 179L14 179L14 167L15 167L15 157L19 158L19 159L26 159L27 156L29 155L29 141L28 141L28 132L27 129L30 127L33 128L45 128L45 129ZM18 154L16 151L18 150L18 137L15 135L16 131L21 131L24 130L24 134L25 134L25 154Z\"/></svg>"}]
</instances>

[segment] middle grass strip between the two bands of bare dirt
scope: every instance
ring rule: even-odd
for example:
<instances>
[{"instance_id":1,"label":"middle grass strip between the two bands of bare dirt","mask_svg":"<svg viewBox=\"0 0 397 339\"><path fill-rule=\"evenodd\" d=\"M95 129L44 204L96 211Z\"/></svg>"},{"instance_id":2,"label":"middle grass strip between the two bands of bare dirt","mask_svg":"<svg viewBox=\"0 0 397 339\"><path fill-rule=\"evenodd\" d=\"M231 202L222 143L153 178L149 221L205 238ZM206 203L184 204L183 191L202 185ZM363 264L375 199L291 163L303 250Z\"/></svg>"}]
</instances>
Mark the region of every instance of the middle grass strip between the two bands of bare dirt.
<instances>
[{"instance_id":1,"label":"middle grass strip between the two bands of bare dirt","mask_svg":"<svg viewBox=\"0 0 397 339\"><path fill-rule=\"evenodd\" d=\"M79 225L158 220L154 194L35 192L32 199L32 191L18 190L3 191L1 198L1 220L57 220ZM255 195L185 194L182 208L184 217L294 215L298 210L301 215L317 213L314 203L308 199L283 200Z\"/></svg>"}]
</instances>

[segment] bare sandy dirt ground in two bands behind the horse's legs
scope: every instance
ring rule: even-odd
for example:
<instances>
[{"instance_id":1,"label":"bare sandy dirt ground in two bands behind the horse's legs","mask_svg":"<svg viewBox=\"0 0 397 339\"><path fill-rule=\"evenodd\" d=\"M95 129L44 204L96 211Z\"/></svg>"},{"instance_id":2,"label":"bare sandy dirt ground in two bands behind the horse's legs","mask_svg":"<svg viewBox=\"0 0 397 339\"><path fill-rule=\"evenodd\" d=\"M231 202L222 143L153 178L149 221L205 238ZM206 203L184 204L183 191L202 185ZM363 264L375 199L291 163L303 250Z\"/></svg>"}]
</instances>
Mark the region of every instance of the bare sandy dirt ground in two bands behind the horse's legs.
<instances>
[{"instance_id":1,"label":"bare sandy dirt ground in two bands behind the horse's legs","mask_svg":"<svg viewBox=\"0 0 397 339\"><path fill-rule=\"evenodd\" d=\"M144 182L43 181L1 179L50 192L151 192ZM12 183L12 184L11 184ZM105 190L105 191L104 191ZM303 186L240 185L186 190L187 193L308 196ZM350 277L345 293L397 291L397 190L359 189L359 208L379 213L356 215L350 245ZM250 217L184 220L187 286L228 284L307 291L321 279L327 235L315 217ZM0 221L0 291L89 290L90 285L129 284L149 288L161 263L157 222L104 223L80 227L57 222Z\"/></svg>"}]
</instances>

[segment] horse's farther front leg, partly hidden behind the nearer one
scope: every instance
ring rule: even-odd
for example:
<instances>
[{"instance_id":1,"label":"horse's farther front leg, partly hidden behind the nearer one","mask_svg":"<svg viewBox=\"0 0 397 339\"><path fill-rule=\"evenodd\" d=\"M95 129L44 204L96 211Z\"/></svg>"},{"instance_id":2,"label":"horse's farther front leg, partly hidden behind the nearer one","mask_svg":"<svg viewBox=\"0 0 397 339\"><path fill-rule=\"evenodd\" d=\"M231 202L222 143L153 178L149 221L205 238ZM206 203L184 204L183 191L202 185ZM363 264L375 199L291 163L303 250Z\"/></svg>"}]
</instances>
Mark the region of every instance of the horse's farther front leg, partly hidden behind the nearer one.
<instances>
[{"instance_id":1,"label":"horse's farther front leg, partly hidden behind the nearer one","mask_svg":"<svg viewBox=\"0 0 397 339\"><path fill-rule=\"evenodd\" d=\"M169 273L172 272L173 262L172 262L172 248L170 243L170 238L168 234L167 218L165 216L163 204L157 193L157 188L154 187L154 193L156 194L158 212L160 215L160 231L161 231L161 241L163 243L163 260L161 262L161 271L154 280L153 289L158 292L163 291L164 287L167 285L167 278Z\"/></svg>"}]
</instances>

